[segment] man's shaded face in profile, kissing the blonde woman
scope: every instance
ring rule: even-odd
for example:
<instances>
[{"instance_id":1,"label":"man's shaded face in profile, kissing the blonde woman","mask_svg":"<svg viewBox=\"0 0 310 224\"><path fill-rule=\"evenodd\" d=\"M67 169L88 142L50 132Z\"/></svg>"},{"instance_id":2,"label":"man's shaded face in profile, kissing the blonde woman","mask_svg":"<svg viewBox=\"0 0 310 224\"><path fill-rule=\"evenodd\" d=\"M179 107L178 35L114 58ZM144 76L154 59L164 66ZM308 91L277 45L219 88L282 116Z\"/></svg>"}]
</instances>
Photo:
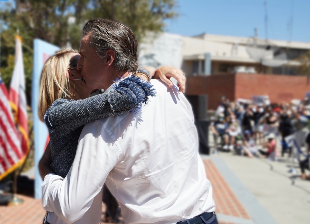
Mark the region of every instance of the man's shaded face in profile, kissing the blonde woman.
<instances>
[{"instance_id":1,"label":"man's shaded face in profile, kissing the blonde woman","mask_svg":"<svg viewBox=\"0 0 310 224\"><path fill-rule=\"evenodd\" d=\"M97 55L95 49L90 46L91 35L86 34L81 40L79 53L81 55L77 69L81 71L86 86L91 89L104 89L107 82L106 69L102 58Z\"/></svg>"}]
</instances>

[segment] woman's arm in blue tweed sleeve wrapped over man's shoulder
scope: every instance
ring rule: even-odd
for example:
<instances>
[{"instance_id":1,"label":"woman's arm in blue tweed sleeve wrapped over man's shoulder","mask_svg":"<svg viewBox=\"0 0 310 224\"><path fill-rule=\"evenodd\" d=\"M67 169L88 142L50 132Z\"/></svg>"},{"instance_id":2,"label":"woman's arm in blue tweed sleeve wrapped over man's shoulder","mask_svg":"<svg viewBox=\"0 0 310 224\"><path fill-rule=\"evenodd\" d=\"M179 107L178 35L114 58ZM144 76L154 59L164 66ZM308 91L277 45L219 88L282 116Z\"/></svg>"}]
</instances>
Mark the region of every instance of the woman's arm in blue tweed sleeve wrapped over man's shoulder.
<instances>
[{"instance_id":1,"label":"woman's arm in blue tweed sleeve wrapped over man's shoulder","mask_svg":"<svg viewBox=\"0 0 310 224\"><path fill-rule=\"evenodd\" d=\"M150 82L131 76L117 81L113 89L103 94L77 101L55 100L44 115L44 121L51 132L57 130L65 135L91 121L141 108L147 96L154 95Z\"/></svg>"}]
</instances>

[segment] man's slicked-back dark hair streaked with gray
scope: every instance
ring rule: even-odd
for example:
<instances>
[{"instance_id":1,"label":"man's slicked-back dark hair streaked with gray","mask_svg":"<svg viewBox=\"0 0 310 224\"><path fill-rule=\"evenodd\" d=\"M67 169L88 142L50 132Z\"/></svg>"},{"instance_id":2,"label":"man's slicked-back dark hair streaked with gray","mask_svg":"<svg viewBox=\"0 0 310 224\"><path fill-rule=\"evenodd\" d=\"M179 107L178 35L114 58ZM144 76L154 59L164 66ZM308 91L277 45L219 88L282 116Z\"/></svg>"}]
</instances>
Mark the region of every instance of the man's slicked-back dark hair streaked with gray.
<instances>
[{"instance_id":1,"label":"man's slicked-back dark hair streaked with gray","mask_svg":"<svg viewBox=\"0 0 310 224\"><path fill-rule=\"evenodd\" d=\"M138 68L138 43L131 29L113 20L89 20L82 35L90 33L91 47L100 58L105 58L108 49L115 51L113 67L117 71L135 71Z\"/></svg>"}]
</instances>

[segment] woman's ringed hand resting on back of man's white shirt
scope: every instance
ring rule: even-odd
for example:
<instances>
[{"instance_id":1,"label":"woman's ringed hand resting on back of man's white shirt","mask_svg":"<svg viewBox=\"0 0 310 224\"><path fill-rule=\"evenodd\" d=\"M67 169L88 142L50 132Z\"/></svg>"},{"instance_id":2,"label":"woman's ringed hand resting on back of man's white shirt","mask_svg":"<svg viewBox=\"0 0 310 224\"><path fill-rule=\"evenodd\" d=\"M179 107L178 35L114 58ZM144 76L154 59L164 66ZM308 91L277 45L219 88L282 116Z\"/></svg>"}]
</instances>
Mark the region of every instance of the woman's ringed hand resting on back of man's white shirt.
<instances>
[{"instance_id":1,"label":"woman's ringed hand resting on back of man's white shirt","mask_svg":"<svg viewBox=\"0 0 310 224\"><path fill-rule=\"evenodd\" d=\"M159 67L155 74L154 77L155 79L161 79L164 81L170 88L173 86L172 81L170 81L170 78L173 77L179 82L179 91L184 93L185 92L185 75L183 74L182 70L169 67L169 66L162 66Z\"/></svg>"}]
</instances>

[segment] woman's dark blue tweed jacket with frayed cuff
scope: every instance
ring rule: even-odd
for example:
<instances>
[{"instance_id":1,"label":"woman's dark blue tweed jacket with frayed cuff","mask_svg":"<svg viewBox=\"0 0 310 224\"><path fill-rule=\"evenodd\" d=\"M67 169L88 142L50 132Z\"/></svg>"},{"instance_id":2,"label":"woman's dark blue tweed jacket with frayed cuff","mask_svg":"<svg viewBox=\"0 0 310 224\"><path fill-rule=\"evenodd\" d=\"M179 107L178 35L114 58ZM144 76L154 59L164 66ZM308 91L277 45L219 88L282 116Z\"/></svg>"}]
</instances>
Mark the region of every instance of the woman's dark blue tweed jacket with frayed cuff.
<instances>
[{"instance_id":1,"label":"woman's dark blue tweed jacket with frayed cuff","mask_svg":"<svg viewBox=\"0 0 310 224\"><path fill-rule=\"evenodd\" d=\"M154 95L150 82L131 76L118 80L111 90L103 94L77 101L55 100L44 116L51 143L50 168L64 178L73 163L85 124L141 108L147 97Z\"/></svg>"}]
</instances>

